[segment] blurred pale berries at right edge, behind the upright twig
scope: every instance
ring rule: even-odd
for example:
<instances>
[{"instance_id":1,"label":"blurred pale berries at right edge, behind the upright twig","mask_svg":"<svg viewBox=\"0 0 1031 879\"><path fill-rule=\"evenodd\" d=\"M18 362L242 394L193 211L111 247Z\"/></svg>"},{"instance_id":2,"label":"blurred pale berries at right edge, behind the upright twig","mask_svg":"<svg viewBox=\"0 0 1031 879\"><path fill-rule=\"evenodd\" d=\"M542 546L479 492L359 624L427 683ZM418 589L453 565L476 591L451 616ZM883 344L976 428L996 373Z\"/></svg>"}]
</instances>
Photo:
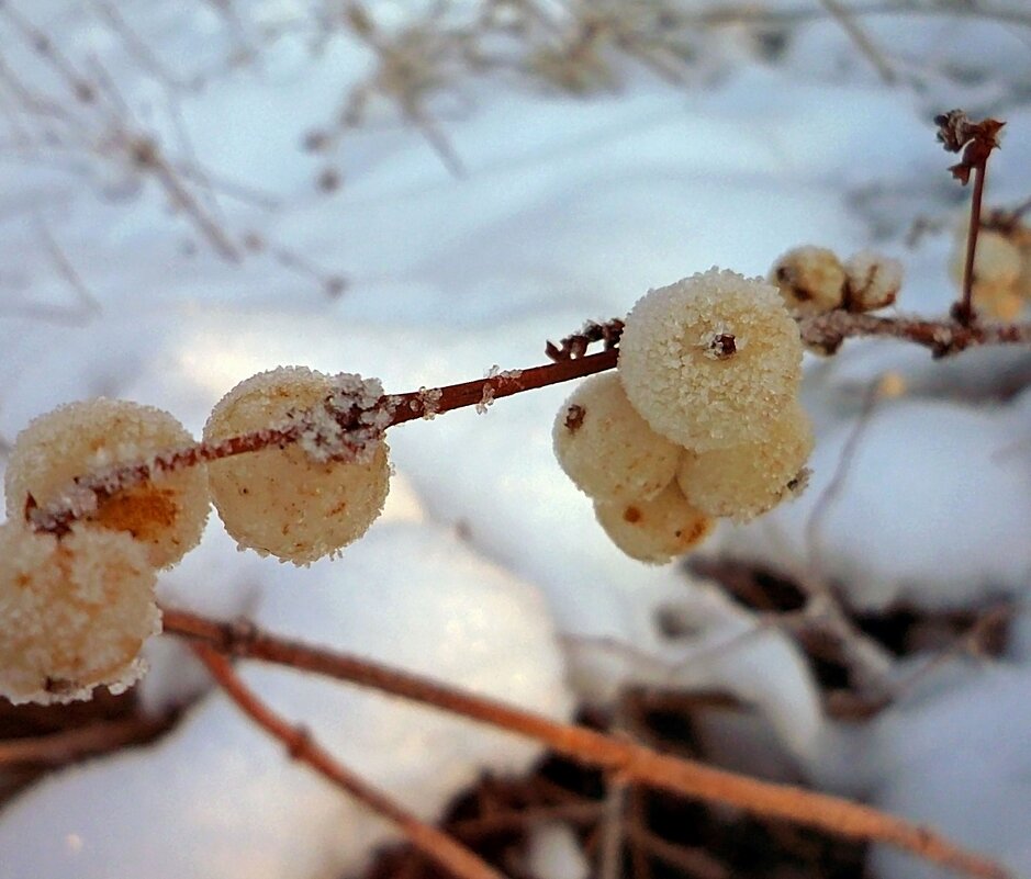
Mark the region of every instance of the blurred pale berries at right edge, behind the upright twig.
<instances>
[{"instance_id":1,"label":"blurred pale berries at right edge, behind the upright twig","mask_svg":"<svg viewBox=\"0 0 1031 879\"><path fill-rule=\"evenodd\" d=\"M968 226L956 230L949 273L963 285ZM974 255L974 307L987 317L1016 320L1031 302L1031 227L1005 214L988 214Z\"/></svg>"}]
</instances>

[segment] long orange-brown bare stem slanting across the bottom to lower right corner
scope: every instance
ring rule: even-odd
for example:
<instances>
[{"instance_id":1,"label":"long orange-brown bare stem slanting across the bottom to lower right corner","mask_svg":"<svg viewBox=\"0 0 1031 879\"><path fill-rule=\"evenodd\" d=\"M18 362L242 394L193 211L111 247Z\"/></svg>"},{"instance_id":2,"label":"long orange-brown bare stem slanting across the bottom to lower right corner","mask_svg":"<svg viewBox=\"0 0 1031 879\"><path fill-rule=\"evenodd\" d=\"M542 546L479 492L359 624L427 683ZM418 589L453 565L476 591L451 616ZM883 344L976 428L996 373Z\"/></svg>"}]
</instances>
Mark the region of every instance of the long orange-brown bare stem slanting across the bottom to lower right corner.
<instances>
[{"instance_id":1,"label":"long orange-brown bare stem slanting across the bottom to lower right corner","mask_svg":"<svg viewBox=\"0 0 1031 879\"><path fill-rule=\"evenodd\" d=\"M558 754L635 784L784 819L840 836L894 845L980 879L1009 877L990 859L960 848L926 827L838 797L758 781L695 760L660 754L586 726L560 723L360 656L277 638L254 627L222 623L172 609L164 611L164 626L170 634L208 644L221 653L264 660L371 687L524 735Z\"/></svg>"}]
</instances>

